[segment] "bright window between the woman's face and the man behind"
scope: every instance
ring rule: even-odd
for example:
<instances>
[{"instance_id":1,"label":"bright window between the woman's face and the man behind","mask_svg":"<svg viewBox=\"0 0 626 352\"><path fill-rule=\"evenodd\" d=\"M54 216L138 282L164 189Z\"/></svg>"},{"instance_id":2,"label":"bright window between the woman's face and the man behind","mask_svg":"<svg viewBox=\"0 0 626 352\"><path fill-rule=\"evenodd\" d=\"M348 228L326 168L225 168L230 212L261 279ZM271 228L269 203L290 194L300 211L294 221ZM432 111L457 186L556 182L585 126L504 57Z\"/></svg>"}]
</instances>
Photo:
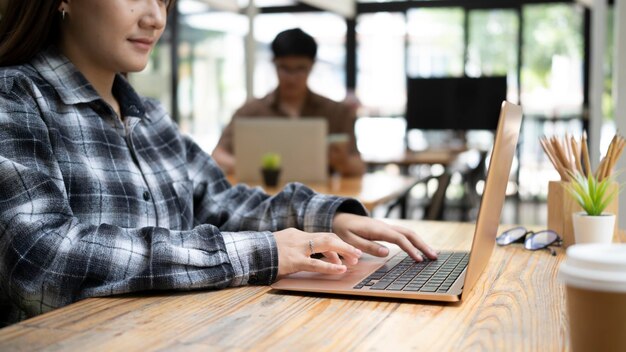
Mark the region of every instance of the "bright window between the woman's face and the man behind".
<instances>
[{"instance_id":1,"label":"bright window between the woman's face and the man behind","mask_svg":"<svg viewBox=\"0 0 626 352\"><path fill-rule=\"evenodd\" d=\"M210 152L232 112L245 101L247 18L217 11L181 17L179 124Z\"/></svg>"}]
</instances>

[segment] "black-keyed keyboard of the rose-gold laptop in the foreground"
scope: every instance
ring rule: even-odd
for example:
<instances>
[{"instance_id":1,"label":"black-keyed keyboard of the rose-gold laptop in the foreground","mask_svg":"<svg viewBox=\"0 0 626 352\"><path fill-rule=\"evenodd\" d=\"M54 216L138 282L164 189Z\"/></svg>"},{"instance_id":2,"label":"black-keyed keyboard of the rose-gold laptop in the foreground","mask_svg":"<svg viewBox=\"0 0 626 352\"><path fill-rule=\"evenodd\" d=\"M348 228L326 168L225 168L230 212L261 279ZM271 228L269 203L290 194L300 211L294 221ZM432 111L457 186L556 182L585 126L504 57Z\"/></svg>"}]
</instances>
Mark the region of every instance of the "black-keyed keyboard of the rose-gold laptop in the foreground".
<instances>
[{"instance_id":1,"label":"black-keyed keyboard of the rose-gold laptop in the foreground","mask_svg":"<svg viewBox=\"0 0 626 352\"><path fill-rule=\"evenodd\" d=\"M441 252L437 260L416 262L398 253L354 286L355 289L446 293L467 267L469 253Z\"/></svg>"}]
</instances>

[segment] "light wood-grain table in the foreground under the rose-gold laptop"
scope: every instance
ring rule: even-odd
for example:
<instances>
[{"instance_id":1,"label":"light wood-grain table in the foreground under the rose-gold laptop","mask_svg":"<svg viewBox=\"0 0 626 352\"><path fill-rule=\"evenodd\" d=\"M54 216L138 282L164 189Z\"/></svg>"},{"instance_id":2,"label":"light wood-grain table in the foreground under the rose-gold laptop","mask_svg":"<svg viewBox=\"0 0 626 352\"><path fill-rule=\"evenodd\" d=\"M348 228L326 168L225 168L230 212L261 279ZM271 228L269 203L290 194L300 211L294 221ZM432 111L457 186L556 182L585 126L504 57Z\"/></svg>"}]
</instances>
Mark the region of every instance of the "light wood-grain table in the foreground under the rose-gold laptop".
<instances>
[{"instance_id":1,"label":"light wood-grain table in the foreground under the rose-gold laptop","mask_svg":"<svg viewBox=\"0 0 626 352\"><path fill-rule=\"evenodd\" d=\"M473 225L401 221L438 249ZM0 351L562 351L563 250L496 247L460 304L293 294L268 287L91 298L0 330Z\"/></svg>"}]
</instances>

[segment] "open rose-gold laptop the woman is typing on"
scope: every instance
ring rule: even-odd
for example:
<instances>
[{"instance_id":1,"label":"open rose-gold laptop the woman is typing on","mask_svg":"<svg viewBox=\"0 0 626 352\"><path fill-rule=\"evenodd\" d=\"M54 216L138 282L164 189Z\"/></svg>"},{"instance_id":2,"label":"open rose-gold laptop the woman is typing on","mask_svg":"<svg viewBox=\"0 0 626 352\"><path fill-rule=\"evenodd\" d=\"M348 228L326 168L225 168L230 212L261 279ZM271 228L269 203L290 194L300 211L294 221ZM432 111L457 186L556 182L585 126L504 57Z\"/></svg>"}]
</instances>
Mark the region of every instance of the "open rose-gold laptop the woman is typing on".
<instances>
[{"instance_id":1,"label":"open rose-gold laptop the woman is typing on","mask_svg":"<svg viewBox=\"0 0 626 352\"><path fill-rule=\"evenodd\" d=\"M341 275L300 272L272 285L279 290L458 302L472 290L495 246L500 212L522 123L521 107L502 103L485 189L469 252L441 251L417 263L396 245L386 258L363 254Z\"/></svg>"}]
</instances>

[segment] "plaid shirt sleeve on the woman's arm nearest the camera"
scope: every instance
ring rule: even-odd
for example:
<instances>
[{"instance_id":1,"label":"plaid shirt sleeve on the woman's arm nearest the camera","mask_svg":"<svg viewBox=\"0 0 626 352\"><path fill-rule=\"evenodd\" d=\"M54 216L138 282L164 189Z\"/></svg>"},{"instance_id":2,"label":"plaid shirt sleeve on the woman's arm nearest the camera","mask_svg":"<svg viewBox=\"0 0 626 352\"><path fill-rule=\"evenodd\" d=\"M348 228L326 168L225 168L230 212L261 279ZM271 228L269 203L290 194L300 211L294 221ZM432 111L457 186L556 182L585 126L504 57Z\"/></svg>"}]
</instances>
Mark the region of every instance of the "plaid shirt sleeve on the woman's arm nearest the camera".
<instances>
[{"instance_id":1,"label":"plaid shirt sleeve on the woman's arm nearest the camera","mask_svg":"<svg viewBox=\"0 0 626 352\"><path fill-rule=\"evenodd\" d=\"M0 306L29 317L86 297L275 280L268 231L81 222L52 148L59 141L43 122L45 100L33 89L0 81Z\"/></svg>"}]
</instances>

